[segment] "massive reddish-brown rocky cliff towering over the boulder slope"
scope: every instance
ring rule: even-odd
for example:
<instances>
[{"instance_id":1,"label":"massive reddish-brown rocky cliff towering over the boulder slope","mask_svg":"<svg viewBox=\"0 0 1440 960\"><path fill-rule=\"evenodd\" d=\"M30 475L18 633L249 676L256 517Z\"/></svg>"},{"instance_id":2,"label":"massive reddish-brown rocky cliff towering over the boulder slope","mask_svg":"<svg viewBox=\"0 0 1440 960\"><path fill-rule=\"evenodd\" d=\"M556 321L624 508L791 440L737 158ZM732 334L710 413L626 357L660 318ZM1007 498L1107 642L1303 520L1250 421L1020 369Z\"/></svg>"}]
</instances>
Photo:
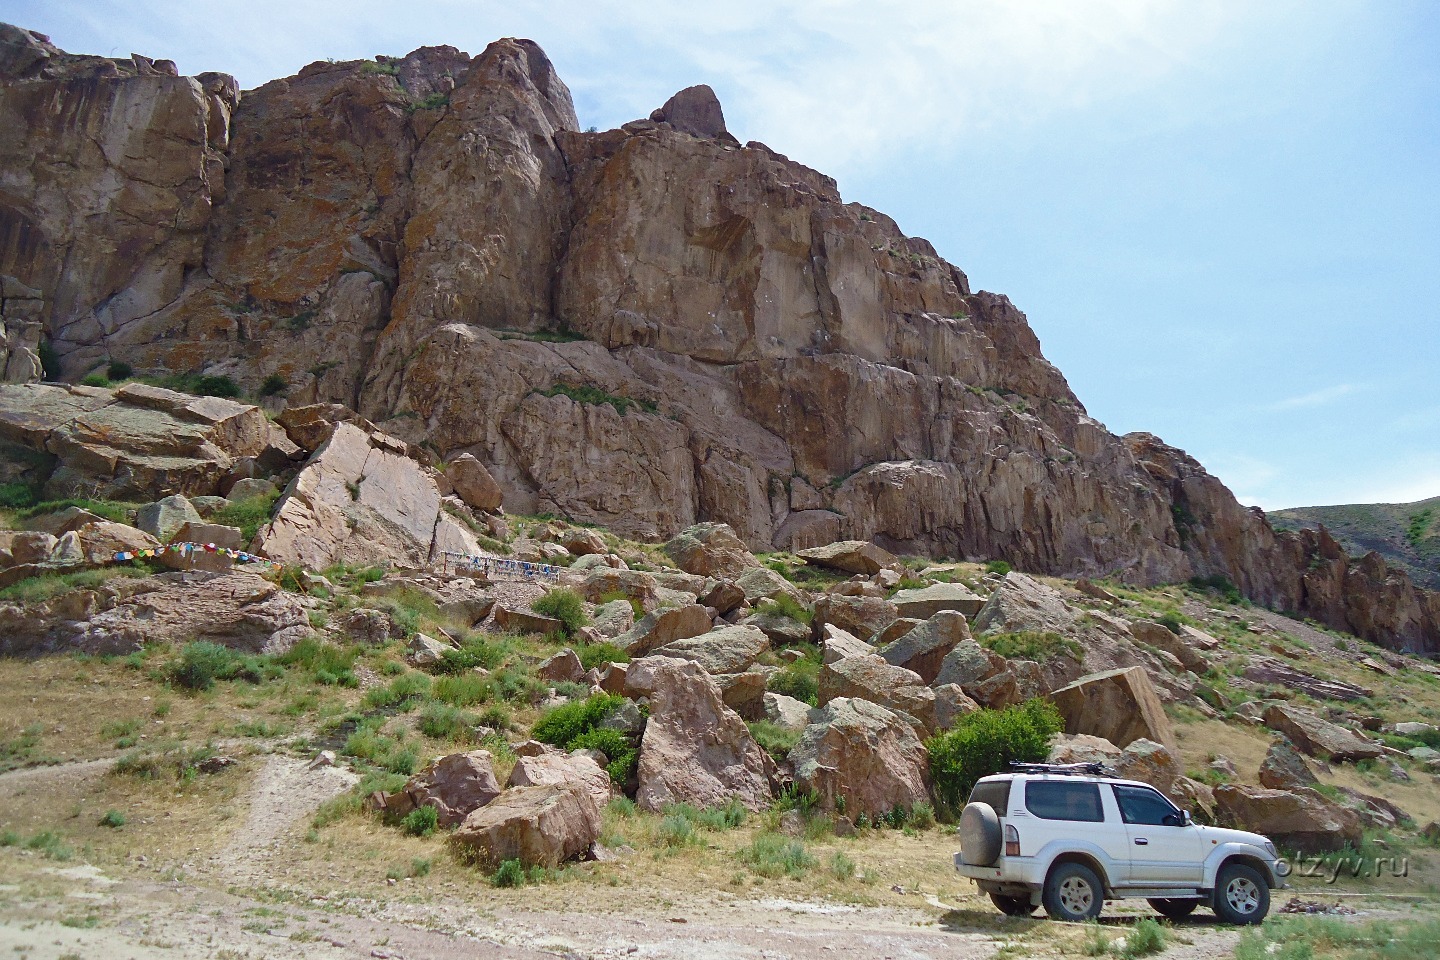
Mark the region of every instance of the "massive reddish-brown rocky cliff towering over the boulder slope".
<instances>
[{"instance_id":1,"label":"massive reddish-brown rocky cliff towering over the boulder slope","mask_svg":"<svg viewBox=\"0 0 1440 960\"><path fill-rule=\"evenodd\" d=\"M240 94L0 27L6 376L229 376L338 402L510 510L638 537L1153 583L1440 649L1440 597L1276 534L1181 450L1090 419L1025 317L708 88L582 132L528 40L312 63ZM12 294L6 294L9 298ZM6 344L14 347L6 347ZM12 358L13 357L13 358ZM10 370L14 373L10 373Z\"/></svg>"}]
</instances>

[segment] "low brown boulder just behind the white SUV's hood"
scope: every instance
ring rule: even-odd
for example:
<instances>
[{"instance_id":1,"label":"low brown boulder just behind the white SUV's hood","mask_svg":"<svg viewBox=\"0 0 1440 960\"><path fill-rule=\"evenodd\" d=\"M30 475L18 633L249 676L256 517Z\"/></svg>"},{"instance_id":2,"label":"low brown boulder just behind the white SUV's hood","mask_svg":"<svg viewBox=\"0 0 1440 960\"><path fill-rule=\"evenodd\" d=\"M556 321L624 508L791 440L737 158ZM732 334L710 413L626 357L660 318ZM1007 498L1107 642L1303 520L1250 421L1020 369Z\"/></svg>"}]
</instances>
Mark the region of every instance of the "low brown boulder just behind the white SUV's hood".
<instances>
[{"instance_id":1,"label":"low brown boulder just behind the white SUV's hood","mask_svg":"<svg viewBox=\"0 0 1440 960\"><path fill-rule=\"evenodd\" d=\"M1214 794L1223 823L1263 833L1302 853L1338 851L1361 842L1359 815L1309 787L1270 790L1225 783L1215 787Z\"/></svg>"}]
</instances>

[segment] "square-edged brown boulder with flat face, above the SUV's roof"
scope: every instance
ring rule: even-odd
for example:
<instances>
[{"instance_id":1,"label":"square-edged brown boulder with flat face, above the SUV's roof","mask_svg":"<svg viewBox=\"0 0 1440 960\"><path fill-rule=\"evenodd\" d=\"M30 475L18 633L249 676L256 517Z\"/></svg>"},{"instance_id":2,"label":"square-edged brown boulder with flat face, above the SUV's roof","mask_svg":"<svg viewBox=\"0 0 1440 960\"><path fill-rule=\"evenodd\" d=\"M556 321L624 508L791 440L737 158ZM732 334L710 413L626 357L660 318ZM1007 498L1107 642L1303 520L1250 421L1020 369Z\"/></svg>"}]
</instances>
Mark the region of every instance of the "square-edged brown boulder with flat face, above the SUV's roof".
<instances>
[{"instance_id":1,"label":"square-edged brown boulder with flat face, above the SUV's roof","mask_svg":"<svg viewBox=\"0 0 1440 960\"><path fill-rule=\"evenodd\" d=\"M1104 737L1126 747L1142 737L1179 753L1175 728L1143 666L1089 674L1050 694L1067 734Z\"/></svg>"}]
</instances>

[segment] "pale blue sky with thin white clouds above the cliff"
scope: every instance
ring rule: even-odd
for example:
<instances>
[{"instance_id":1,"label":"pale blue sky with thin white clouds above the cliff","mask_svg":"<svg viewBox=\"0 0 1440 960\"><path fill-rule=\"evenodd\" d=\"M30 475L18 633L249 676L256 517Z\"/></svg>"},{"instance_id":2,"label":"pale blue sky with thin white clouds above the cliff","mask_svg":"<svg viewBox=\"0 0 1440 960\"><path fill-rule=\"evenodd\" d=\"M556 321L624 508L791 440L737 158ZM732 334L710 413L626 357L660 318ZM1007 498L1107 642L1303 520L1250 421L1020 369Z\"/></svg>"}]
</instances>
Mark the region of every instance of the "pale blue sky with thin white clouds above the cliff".
<instances>
[{"instance_id":1,"label":"pale blue sky with thin white clouds above the cliff","mask_svg":"<svg viewBox=\"0 0 1440 960\"><path fill-rule=\"evenodd\" d=\"M1433 0L0 0L245 88L530 37L582 127L708 83L1007 294L1090 415L1267 510L1440 494Z\"/></svg>"}]
</instances>

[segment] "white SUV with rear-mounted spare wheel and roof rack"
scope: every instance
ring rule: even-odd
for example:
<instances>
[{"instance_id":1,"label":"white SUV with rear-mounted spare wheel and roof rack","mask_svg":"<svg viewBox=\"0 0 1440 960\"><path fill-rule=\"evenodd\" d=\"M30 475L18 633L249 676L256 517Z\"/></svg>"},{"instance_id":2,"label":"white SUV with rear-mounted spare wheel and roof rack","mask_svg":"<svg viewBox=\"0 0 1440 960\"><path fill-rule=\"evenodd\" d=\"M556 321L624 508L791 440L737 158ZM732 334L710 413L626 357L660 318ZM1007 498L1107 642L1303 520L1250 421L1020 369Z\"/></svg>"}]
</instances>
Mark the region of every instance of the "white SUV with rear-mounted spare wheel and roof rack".
<instances>
[{"instance_id":1,"label":"white SUV with rear-mounted spare wheel and roof rack","mask_svg":"<svg viewBox=\"0 0 1440 960\"><path fill-rule=\"evenodd\" d=\"M1284 887L1274 843L1194 823L1155 787L1100 764L1017 764L975 784L960 813L955 869L1004 913L1044 905L1093 920L1106 900L1143 897L1166 917L1208 904L1233 924L1270 911Z\"/></svg>"}]
</instances>

